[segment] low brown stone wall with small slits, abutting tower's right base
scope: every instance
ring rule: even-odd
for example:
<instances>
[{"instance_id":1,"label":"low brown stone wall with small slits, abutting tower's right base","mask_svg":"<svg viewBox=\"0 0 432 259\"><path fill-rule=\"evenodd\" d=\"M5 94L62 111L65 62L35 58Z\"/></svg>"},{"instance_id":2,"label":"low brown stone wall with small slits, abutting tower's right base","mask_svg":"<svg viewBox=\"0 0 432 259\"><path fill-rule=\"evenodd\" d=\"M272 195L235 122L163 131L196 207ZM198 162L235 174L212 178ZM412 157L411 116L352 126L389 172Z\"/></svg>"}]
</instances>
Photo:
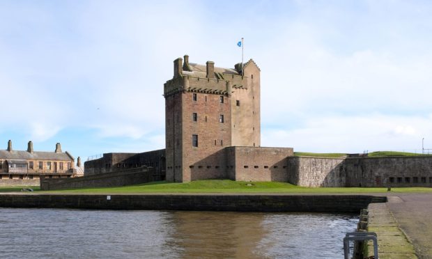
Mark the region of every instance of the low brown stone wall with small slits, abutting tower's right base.
<instances>
[{"instance_id":1,"label":"low brown stone wall with small slits, abutting tower's right base","mask_svg":"<svg viewBox=\"0 0 432 259\"><path fill-rule=\"evenodd\" d=\"M229 178L237 181L287 182L287 157L293 155L293 148L225 148Z\"/></svg>"}]
</instances>

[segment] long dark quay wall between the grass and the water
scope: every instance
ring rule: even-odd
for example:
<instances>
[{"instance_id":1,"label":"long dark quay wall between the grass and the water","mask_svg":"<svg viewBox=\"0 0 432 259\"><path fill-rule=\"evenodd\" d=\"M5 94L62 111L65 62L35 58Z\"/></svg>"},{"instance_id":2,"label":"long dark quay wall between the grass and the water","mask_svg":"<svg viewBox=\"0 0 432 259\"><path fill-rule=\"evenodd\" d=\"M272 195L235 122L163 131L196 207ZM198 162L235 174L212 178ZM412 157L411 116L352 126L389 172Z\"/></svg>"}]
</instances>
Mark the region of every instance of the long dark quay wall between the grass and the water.
<instances>
[{"instance_id":1,"label":"long dark quay wall between the grass and the water","mask_svg":"<svg viewBox=\"0 0 432 259\"><path fill-rule=\"evenodd\" d=\"M247 194L0 194L0 207L50 207L100 210L211 210L239 212L359 213L386 197L369 195Z\"/></svg>"}]
</instances>

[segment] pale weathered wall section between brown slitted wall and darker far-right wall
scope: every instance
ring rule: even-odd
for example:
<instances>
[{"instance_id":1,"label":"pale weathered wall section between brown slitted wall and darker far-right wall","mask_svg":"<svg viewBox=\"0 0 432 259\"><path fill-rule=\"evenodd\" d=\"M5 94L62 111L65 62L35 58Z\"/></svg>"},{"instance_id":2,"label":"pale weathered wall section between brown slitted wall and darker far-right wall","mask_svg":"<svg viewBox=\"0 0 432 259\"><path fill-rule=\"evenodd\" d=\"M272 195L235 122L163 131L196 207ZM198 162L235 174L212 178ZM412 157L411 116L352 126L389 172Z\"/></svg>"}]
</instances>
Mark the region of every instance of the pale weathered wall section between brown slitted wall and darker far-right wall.
<instances>
[{"instance_id":1,"label":"pale weathered wall section between brown slitted wall and darker far-right wall","mask_svg":"<svg viewBox=\"0 0 432 259\"><path fill-rule=\"evenodd\" d=\"M344 187L343 158L288 157L288 182L302 187Z\"/></svg>"}]
</instances>

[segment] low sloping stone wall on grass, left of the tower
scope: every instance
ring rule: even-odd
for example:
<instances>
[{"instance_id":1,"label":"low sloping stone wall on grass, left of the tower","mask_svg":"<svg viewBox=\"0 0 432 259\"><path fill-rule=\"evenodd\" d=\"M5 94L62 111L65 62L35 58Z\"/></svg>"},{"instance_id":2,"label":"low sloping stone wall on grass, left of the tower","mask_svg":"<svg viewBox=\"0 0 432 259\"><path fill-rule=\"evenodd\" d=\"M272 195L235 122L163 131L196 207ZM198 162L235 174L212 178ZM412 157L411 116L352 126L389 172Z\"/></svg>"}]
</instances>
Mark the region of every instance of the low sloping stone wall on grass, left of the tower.
<instances>
[{"instance_id":1,"label":"low sloping stone wall on grass, left of the tower","mask_svg":"<svg viewBox=\"0 0 432 259\"><path fill-rule=\"evenodd\" d=\"M73 189L84 187L119 187L125 185L137 185L150 182L153 168L141 166L115 173L103 173L88 175L79 178L40 178L40 189L45 191L54 189Z\"/></svg>"}]
</instances>

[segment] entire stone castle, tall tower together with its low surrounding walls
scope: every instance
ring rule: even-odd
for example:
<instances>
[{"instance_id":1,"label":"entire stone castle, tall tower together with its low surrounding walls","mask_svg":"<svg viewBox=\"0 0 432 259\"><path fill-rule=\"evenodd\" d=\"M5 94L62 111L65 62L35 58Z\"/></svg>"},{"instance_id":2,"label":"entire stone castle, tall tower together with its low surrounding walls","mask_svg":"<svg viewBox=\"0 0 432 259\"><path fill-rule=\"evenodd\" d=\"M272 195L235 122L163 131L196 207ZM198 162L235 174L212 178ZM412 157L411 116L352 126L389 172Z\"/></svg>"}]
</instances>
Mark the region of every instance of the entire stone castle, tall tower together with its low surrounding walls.
<instances>
[{"instance_id":1,"label":"entire stone castle, tall tower together with its low surrounding walls","mask_svg":"<svg viewBox=\"0 0 432 259\"><path fill-rule=\"evenodd\" d=\"M231 68L173 63L164 84L166 148L107 153L86 175L152 169L149 180L279 181L307 187L432 186L432 157L295 157L261 147L260 72L249 60Z\"/></svg>"}]
</instances>

